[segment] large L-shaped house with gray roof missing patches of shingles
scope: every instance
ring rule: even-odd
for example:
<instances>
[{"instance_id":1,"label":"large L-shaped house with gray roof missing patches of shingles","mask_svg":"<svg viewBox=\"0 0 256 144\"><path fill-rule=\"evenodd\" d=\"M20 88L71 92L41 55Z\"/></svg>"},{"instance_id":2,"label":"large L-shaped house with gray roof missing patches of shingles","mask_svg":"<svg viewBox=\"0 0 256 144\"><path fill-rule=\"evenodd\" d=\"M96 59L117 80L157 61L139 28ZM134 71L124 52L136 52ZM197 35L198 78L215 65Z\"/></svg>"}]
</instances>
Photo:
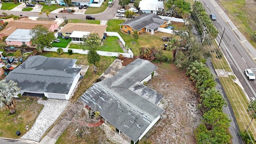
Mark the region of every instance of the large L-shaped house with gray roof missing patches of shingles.
<instances>
[{"instance_id":1,"label":"large L-shaped house with gray roof missing patches of shingles","mask_svg":"<svg viewBox=\"0 0 256 144\"><path fill-rule=\"evenodd\" d=\"M94 84L79 99L135 143L164 112L157 106L164 96L143 84L156 69L148 60L138 58L112 78Z\"/></svg>"}]
</instances>

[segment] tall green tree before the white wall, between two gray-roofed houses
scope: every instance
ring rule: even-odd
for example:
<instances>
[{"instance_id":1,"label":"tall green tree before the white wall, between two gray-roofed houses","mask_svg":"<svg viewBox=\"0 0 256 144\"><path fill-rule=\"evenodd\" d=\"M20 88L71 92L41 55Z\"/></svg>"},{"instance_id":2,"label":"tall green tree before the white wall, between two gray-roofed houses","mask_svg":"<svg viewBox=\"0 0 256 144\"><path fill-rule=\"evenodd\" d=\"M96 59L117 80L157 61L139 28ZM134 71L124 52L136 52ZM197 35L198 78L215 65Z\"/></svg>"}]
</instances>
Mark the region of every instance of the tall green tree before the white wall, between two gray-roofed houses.
<instances>
[{"instance_id":1,"label":"tall green tree before the white wall, between two gray-roofed houses","mask_svg":"<svg viewBox=\"0 0 256 144\"><path fill-rule=\"evenodd\" d=\"M101 38L97 33L83 36L83 43L80 43L80 47L83 50L89 50L87 60L90 64L94 65L94 72L97 72L97 66L100 65L100 55L97 53L101 46Z\"/></svg>"}]
</instances>

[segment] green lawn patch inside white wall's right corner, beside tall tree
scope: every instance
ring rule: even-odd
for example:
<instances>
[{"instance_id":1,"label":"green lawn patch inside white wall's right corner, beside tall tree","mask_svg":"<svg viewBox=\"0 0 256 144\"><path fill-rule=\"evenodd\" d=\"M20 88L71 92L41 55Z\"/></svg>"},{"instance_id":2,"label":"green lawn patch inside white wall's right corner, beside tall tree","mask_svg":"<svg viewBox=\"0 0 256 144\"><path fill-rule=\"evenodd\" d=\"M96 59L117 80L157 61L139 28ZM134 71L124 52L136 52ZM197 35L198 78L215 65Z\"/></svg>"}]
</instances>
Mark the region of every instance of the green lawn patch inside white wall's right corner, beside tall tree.
<instances>
[{"instance_id":1,"label":"green lawn patch inside white wall's right corner, beside tall tree","mask_svg":"<svg viewBox=\"0 0 256 144\"><path fill-rule=\"evenodd\" d=\"M100 51L124 52L122 48L120 48L117 40L119 40L117 36L107 36L103 45L100 47Z\"/></svg>"}]
</instances>

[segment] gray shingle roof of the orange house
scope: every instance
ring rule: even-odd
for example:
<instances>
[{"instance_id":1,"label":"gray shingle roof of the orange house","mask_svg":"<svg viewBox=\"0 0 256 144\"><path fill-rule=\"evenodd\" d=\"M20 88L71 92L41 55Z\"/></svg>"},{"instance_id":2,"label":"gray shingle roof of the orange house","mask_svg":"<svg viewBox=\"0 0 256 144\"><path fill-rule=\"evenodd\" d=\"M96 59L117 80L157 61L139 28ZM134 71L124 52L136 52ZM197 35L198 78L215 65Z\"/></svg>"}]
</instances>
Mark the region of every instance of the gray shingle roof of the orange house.
<instances>
[{"instance_id":1,"label":"gray shingle roof of the orange house","mask_svg":"<svg viewBox=\"0 0 256 144\"><path fill-rule=\"evenodd\" d=\"M159 16L157 16L154 13L150 14L142 14L140 16L137 16L135 18L132 18L131 20L127 20L126 22L123 22L119 25L125 25L130 26L134 30L140 30L152 23L154 23L154 28L157 28L161 26L165 21L162 20ZM152 29L154 29L152 28Z\"/></svg>"}]
</instances>

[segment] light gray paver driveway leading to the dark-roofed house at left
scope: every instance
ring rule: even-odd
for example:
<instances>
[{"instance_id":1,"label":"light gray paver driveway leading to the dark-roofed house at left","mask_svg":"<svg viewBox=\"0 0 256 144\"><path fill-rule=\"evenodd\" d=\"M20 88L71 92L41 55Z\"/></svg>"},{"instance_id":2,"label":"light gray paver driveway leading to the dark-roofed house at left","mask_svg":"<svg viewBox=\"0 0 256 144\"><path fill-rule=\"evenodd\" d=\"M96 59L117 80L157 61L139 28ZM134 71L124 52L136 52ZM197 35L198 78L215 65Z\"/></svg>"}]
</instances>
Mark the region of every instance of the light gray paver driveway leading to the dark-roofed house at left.
<instances>
[{"instance_id":1,"label":"light gray paver driveway leading to the dark-roofed house at left","mask_svg":"<svg viewBox=\"0 0 256 144\"><path fill-rule=\"evenodd\" d=\"M44 133L52 126L52 124L58 119L60 114L64 111L68 105L68 100L48 99L38 100L39 104L43 104L44 108L40 112L36 119L36 122L32 128L24 134L21 139L33 140L36 142L40 141L40 138Z\"/></svg>"}]
</instances>

